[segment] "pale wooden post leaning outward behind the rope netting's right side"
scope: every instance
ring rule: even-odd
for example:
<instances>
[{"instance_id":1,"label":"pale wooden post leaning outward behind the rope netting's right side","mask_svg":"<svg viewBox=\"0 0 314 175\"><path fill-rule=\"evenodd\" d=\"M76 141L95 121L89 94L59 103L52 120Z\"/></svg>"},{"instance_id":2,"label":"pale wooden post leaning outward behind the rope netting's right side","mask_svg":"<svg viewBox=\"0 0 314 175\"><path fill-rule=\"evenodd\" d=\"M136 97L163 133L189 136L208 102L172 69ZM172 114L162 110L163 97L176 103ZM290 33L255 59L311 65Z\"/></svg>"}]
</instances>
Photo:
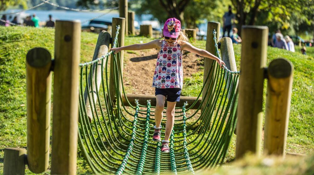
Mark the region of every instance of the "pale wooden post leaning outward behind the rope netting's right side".
<instances>
[{"instance_id":1,"label":"pale wooden post leaning outward behind the rope netting's right side","mask_svg":"<svg viewBox=\"0 0 314 175\"><path fill-rule=\"evenodd\" d=\"M225 62L226 67L230 71L237 71L236 68L236 58L235 53L233 50L232 40L230 37L223 37L220 39L220 52L221 52L221 59ZM227 80L226 80L227 81ZM229 86L229 83L227 86ZM230 90L232 89L233 85L230 86ZM228 93L228 99L230 98L231 91Z\"/></svg>"}]
</instances>

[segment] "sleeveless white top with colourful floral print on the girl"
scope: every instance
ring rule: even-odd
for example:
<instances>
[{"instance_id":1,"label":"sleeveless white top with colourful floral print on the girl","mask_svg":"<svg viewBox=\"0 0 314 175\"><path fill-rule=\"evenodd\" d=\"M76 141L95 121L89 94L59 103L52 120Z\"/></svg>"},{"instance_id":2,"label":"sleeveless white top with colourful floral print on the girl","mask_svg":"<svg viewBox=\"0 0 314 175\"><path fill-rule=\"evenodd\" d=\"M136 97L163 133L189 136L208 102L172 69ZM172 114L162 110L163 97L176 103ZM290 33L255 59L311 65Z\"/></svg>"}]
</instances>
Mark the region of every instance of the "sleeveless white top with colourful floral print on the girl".
<instances>
[{"instance_id":1,"label":"sleeveless white top with colourful floral print on the girl","mask_svg":"<svg viewBox=\"0 0 314 175\"><path fill-rule=\"evenodd\" d=\"M152 87L182 89L182 53L178 42L170 45L165 40L162 40L162 45L157 56Z\"/></svg>"}]
</instances>

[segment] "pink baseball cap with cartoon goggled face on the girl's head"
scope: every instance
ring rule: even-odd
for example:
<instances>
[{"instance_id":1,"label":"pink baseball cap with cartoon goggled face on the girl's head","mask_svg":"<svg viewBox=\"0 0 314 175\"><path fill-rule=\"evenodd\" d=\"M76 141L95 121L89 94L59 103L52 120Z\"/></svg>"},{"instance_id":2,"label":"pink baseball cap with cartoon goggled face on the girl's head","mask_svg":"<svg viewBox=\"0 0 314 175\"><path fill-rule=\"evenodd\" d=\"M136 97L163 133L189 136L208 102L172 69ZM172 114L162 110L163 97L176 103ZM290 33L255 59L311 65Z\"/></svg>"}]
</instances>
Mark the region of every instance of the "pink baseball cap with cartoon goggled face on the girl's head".
<instances>
[{"instance_id":1,"label":"pink baseball cap with cartoon goggled face on the girl's head","mask_svg":"<svg viewBox=\"0 0 314 175\"><path fill-rule=\"evenodd\" d=\"M172 17L167 19L164 24L164 36L177 38L179 36L179 32L181 31L181 22L176 18Z\"/></svg>"}]
</instances>

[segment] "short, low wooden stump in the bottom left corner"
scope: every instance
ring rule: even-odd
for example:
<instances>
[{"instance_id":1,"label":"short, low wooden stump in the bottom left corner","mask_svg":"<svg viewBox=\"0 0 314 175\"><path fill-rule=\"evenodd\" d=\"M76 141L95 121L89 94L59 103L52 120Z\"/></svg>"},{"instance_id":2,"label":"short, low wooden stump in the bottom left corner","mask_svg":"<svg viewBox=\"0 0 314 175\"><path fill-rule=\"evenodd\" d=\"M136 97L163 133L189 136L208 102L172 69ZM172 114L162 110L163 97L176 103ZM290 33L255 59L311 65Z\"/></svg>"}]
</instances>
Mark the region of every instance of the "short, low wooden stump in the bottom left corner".
<instances>
[{"instance_id":1,"label":"short, low wooden stump in the bottom left corner","mask_svg":"<svg viewBox=\"0 0 314 175\"><path fill-rule=\"evenodd\" d=\"M25 160L25 148L4 148L3 175L24 175Z\"/></svg>"}]
</instances>

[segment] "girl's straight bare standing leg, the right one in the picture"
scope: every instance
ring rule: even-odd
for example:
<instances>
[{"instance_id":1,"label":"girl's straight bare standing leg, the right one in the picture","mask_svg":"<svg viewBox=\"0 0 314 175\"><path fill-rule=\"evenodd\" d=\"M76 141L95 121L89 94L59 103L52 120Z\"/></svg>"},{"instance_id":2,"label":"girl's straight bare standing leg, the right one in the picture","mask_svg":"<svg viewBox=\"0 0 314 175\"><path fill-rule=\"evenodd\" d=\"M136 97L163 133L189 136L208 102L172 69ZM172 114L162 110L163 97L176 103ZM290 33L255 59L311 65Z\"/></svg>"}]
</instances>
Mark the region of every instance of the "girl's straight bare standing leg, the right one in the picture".
<instances>
[{"instance_id":1,"label":"girl's straight bare standing leg, the right one in the picture","mask_svg":"<svg viewBox=\"0 0 314 175\"><path fill-rule=\"evenodd\" d=\"M175 108L176 108L176 102L167 102L167 110L166 110L167 122L166 122L166 130L165 130L165 140L167 141L170 138L173 124L175 122Z\"/></svg>"}]
</instances>

